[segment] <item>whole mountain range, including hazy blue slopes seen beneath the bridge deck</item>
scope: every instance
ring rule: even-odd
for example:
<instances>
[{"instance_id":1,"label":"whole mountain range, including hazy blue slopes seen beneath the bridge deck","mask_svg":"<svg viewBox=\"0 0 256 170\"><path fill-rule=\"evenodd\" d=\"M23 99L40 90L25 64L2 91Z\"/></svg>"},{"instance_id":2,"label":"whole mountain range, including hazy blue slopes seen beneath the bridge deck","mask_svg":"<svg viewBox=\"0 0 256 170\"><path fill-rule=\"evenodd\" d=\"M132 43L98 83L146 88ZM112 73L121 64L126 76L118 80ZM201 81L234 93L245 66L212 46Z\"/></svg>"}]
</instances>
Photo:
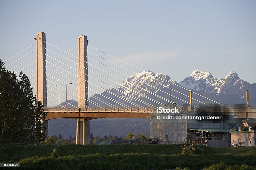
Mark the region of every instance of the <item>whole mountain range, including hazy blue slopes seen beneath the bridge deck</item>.
<instances>
[{"instance_id":1,"label":"whole mountain range, including hazy blue slopes seen beneath the bridge deck","mask_svg":"<svg viewBox=\"0 0 256 170\"><path fill-rule=\"evenodd\" d=\"M140 106L155 106L155 88L158 105L167 104L170 100L170 81L173 80L166 74L156 74L150 70L144 70L141 73L127 77L122 85L116 88L107 89L102 93L103 96L110 97L118 102L103 97L100 94L95 94L93 95L95 98L92 96L89 98L89 101L92 101L89 102L89 106L94 106L93 102L105 106L106 104L102 101L111 103L115 106L120 106L120 103L123 103L126 106L132 106L133 104L138 104ZM195 70L183 81L179 83L174 81L171 85L171 89L171 101L177 104L189 102L189 90L219 103L246 103L246 90L249 90L250 103L256 103L256 83L250 84L249 82L240 79L238 74L233 71L229 72L224 78L217 79L213 77L210 72ZM196 100L193 100L193 103L200 103L199 101L214 103L213 101L196 94L193 94L193 98L196 98ZM76 101L68 102L72 102L72 105L74 106L77 104ZM137 126L134 132L137 133L137 131L140 131L149 134L149 122L149 119L101 118L90 121L90 131L95 137L97 135L100 137L103 137L104 135L109 136L110 134L112 136L122 135L125 137L129 131L132 131L132 125L139 124L140 126ZM65 125L66 123L71 123L73 125L71 129L67 130L67 133L71 136L75 136L76 120L67 119L49 120L49 134L58 135L61 132L62 125ZM67 135L67 137L68 136L69 135ZM64 135L63 137L66 138Z\"/></svg>"}]
</instances>

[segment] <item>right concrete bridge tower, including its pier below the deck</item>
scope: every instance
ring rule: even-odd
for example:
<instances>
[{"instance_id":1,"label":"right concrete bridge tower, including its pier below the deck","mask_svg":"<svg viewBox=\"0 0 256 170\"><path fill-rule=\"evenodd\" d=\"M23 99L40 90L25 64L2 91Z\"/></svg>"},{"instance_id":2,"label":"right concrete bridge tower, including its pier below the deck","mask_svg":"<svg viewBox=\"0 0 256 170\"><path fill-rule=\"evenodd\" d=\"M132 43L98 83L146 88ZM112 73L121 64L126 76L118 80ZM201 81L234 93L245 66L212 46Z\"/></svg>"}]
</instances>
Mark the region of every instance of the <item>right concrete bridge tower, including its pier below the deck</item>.
<instances>
[{"instance_id":1,"label":"right concrete bridge tower, including its pier below the deck","mask_svg":"<svg viewBox=\"0 0 256 170\"><path fill-rule=\"evenodd\" d=\"M88 64L87 64L87 36L78 37L78 101L77 107L84 110L88 107ZM80 126L80 130L79 130ZM79 142L80 131L80 142ZM77 119L76 144L90 144L90 122L87 118Z\"/></svg>"}]
</instances>

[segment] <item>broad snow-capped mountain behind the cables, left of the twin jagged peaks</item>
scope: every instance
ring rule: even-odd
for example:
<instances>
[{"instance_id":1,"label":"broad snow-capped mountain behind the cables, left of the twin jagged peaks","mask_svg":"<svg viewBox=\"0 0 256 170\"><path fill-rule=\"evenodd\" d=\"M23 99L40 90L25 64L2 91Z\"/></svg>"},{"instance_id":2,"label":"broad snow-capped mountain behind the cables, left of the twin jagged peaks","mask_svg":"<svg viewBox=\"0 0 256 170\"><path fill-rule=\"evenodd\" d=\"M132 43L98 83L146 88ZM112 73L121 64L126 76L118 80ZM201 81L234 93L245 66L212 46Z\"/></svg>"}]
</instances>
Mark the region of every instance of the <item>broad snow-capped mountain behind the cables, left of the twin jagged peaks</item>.
<instances>
[{"instance_id":1,"label":"broad snow-capped mountain behind the cables, left of the twin jagged peaks","mask_svg":"<svg viewBox=\"0 0 256 170\"><path fill-rule=\"evenodd\" d=\"M108 96L111 99L117 100L127 106L132 106L134 103L139 106L155 106L155 87L157 95L161 97L157 97L158 105L160 103L166 104L169 103L170 100L170 77L163 73L157 73L150 70L144 70L141 73L129 76L125 79L122 85L116 88L110 88L105 90L102 95ZM151 83L152 82L152 83ZM155 83L155 84L154 84ZM178 84L174 82L175 84ZM175 89L177 87L173 87L172 85L172 95L175 95ZM187 90L182 89L183 93L188 94ZM177 95L177 94L176 94ZM111 103L115 106L120 106L119 102L115 102L109 98L103 97L99 94L94 95L95 98L100 98L105 102ZM104 106L104 103L90 97L90 101L95 101ZM175 99L173 97L173 99ZM174 100L175 101L175 100Z\"/></svg>"}]
</instances>

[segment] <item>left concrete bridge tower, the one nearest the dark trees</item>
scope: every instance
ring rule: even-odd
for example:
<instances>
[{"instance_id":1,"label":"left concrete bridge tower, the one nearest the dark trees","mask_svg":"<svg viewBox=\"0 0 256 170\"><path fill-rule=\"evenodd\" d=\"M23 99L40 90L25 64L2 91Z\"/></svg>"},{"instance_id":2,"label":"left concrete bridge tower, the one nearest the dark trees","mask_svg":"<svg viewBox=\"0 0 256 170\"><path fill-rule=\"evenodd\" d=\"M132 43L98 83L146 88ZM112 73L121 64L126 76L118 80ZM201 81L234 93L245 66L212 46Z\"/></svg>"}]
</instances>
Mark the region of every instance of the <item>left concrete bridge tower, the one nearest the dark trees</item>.
<instances>
[{"instance_id":1,"label":"left concrete bridge tower, the one nearest the dark trees","mask_svg":"<svg viewBox=\"0 0 256 170\"><path fill-rule=\"evenodd\" d=\"M47 108L46 89L46 43L45 33L36 34L36 98ZM48 136L48 120L44 120L46 126L46 136Z\"/></svg>"}]
</instances>

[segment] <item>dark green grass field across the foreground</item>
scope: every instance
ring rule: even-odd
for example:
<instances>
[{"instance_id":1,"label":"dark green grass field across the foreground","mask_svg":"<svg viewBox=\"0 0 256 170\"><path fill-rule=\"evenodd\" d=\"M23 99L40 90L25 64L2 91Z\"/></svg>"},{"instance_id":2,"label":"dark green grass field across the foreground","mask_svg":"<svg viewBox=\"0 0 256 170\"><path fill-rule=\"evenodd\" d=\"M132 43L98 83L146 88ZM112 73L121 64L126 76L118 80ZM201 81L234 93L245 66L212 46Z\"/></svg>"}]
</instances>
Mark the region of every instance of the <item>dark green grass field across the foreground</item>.
<instances>
[{"instance_id":1,"label":"dark green grass field across the foreground","mask_svg":"<svg viewBox=\"0 0 256 170\"><path fill-rule=\"evenodd\" d=\"M21 169L256 169L256 147L200 145L201 153L185 155L183 145L0 146L0 162Z\"/></svg>"}]
</instances>

